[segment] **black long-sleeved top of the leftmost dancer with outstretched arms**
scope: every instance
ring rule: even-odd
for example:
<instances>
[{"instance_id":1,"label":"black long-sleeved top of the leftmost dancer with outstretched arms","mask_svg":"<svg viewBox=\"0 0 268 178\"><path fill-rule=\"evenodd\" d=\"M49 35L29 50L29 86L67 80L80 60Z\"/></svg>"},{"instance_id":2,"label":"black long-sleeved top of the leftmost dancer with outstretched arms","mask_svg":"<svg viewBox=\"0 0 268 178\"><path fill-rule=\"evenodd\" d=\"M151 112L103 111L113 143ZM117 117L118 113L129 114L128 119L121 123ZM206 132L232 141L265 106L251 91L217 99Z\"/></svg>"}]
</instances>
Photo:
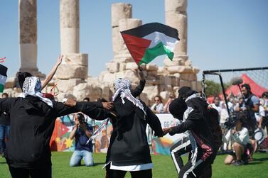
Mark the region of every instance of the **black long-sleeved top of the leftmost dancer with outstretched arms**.
<instances>
[{"instance_id":1,"label":"black long-sleeved top of the leftmost dancer with outstretched arms","mask_svg":"<svg viewBox=\"0 0 268 178\"><path fill-rule=\"evenodd\" d=\"M37 168L51 165L50 137L55 119L82 111L97 119L107 118L101 103L77 102L74 108L53 101L53 108L34 96L0 99L0 111L10 113L6 160L11 167Z\"/></svg>"}]
</instances>

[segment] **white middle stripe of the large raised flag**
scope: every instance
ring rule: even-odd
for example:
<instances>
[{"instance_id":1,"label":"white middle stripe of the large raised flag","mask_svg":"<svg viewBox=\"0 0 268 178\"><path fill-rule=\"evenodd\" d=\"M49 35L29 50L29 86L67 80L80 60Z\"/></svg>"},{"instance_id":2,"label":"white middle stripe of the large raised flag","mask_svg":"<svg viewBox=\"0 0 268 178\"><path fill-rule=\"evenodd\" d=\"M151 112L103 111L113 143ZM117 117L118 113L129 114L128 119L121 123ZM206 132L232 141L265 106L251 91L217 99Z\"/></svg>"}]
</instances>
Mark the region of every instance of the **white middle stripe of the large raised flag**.
<instances>
[{"instance_id":1,"label":"white middle stripe of the large raised flag","mask_svg":"<svg viewBox=\"0 0 268 178\"><path fill-rule=\"evenodd\" d=\"M159 33L157 31L149 35L146 35L143 38L146 40L151 40L151 44L149 45L148 48L154 48L157 44L162 42L163 45L165 45L166 48L168 48L168 50L171 50L171 52L173 52L173 50L176 47L176 44L178 43L178 40L176 38L172 38L168 35L165 35L164 33Z\"/></svg>"}]
</instances>

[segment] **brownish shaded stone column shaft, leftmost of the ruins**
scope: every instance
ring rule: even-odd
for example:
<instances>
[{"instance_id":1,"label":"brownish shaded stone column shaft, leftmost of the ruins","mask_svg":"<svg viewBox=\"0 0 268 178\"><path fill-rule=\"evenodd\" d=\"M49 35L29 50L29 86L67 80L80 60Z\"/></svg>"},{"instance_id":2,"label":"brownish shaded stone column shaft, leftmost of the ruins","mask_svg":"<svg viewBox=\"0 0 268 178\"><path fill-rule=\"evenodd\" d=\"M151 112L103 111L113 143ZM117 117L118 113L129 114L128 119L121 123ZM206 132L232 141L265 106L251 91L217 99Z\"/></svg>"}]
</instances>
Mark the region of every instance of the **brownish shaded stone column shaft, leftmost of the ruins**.
<instances>
[{"instance_id":1,"label":"brownish shaded stone column shaft, leftmost of the ruins","mask_svg":"<svg viewBox=\"0 0 268 178\"><path fill-rule=\"evenodd\" d=\"M36 0L19 0L19 43L21 55L21 72L38 71L37 61L37 21Z\"/></svg>"}]
</instances>

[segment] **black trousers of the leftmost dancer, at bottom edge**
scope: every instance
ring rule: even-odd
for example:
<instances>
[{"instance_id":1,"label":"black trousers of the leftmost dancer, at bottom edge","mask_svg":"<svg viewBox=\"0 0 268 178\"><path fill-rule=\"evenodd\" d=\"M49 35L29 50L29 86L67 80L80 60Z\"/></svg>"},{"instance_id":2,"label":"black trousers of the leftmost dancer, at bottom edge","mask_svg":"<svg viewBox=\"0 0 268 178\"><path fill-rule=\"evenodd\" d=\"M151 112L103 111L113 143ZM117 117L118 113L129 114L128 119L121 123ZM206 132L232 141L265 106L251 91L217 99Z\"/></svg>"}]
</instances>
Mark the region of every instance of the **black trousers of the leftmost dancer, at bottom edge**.
<instances>
[{"instance_id":1,"label":"black trousers of the leftmost dancer, at bottom edge","mask_svg":"<svg viewBox=\"0 0 268 178\"><path fill-rule=\"evenodd\" d=\"M9 172L12 178L51 178L51 165L39 167L36 169L17 168L9 166Z\"/></svg>"}]
</instances>

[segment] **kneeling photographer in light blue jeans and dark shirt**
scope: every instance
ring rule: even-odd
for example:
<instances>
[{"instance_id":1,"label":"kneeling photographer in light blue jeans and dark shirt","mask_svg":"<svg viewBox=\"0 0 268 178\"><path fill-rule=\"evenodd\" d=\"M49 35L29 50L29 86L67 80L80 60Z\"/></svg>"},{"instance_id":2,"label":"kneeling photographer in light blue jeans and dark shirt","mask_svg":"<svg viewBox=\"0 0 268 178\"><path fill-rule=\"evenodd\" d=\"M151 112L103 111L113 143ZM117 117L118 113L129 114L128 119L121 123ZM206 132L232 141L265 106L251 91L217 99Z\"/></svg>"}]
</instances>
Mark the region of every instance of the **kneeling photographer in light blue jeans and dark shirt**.
<instances>
[{"instance_id":1,"label":"kneeling photographer in light blue jeans and dark shirt","mask_svg":"<svg viewBox=\"0 0 268 178\"><path fill-rule=\"evenodd\" d=\"M75 152L70 159L70 167L81 165L83 159L86 166L93 165L92 143L87 140L92 136L92 126L85 122L82 113L77 113L75 117L75 126L70 133L70 139L75 138Z\"/></svg>"}]
</instances>

